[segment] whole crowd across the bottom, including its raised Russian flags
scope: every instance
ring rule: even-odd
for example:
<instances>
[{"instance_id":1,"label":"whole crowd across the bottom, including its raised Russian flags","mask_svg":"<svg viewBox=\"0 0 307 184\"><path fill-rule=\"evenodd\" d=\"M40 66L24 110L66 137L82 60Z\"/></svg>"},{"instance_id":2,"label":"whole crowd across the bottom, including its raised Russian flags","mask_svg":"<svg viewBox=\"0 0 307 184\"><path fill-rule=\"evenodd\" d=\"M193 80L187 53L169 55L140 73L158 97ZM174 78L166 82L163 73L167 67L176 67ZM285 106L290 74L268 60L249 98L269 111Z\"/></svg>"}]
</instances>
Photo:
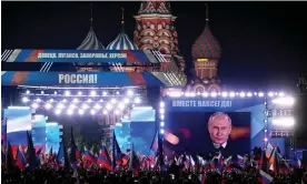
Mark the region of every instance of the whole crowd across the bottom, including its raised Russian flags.
<instances>
[{"instance_id":1,"label":"whole crowd across the bottom, including its raised Russian flags","mask_svg":"<svg viewBox=\"0 0 307 184\"><path fill-rule=\"evenodd\" d=\"M27 133L28 146L12 153L10 143L2 147L1 182L4 184L258 184L306 183L304 166L288 163L279 149L269 143L256 147L252 155L225 156L221 152L207 156L187 153L165 155L158 141L156 155L137 154L133 146L122 153L115 141L110 151L102 144L99 153L79 153L71 137L67 149L62 142L58 153L36 151ZM116 139L115 139L116 140ZM111 152L111 154L109 154ZM299 170L299 171L298 171ZM299 174L300 173L300 174Z\"/></svg>"}]
</instances>

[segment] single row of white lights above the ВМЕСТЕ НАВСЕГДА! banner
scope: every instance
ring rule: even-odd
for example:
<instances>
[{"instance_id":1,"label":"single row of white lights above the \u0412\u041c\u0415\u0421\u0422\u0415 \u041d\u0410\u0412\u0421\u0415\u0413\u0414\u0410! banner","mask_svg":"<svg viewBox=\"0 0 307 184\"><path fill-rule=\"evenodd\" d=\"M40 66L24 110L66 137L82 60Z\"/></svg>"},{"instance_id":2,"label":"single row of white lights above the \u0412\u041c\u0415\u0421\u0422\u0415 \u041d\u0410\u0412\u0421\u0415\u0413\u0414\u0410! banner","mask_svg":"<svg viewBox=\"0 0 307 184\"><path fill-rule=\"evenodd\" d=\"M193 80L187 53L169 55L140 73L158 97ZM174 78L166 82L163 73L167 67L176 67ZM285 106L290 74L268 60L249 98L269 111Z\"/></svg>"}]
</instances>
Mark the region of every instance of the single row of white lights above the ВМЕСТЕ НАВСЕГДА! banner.
<instances>
[{"instance_id":1,"label":"single row of white lights above the \u0412\u041c\u0415\u0421\u0422\u0415 \u041d\u0410\u0412\u0421\u0415\u0413\u0414\u0410! banner","mask_svg":"<svg viewBox=\"0 0 307 184\"><path fill-rule=\"evenodd\" d=\"M166 90L164 95L169 98L284 98L284 92L245 92L245 91L222 91L222 92L184 92L181 89Z\"/></svg>"}]
</instances>

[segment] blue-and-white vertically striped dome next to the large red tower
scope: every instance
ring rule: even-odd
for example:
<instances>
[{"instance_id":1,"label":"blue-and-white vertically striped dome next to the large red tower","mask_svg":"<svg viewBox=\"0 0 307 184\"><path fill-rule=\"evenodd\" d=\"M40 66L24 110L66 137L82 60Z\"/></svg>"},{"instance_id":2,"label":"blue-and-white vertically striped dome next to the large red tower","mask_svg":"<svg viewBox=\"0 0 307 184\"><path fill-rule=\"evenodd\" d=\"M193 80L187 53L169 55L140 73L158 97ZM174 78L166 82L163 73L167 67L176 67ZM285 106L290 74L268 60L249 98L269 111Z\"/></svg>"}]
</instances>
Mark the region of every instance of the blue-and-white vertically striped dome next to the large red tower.
<instances>
[{"instance_id":1,"label":"blue-and-white vertically striped dome next to the large red tower","mask_svg":"<svg viewBox=\"0 0 307 184\"><path fill-rule=\"evenodd\" d=\"M123 27L117 38L108 44L107 50L139 50L139 48L125 33Z\"/></svg>"}]
</instances>

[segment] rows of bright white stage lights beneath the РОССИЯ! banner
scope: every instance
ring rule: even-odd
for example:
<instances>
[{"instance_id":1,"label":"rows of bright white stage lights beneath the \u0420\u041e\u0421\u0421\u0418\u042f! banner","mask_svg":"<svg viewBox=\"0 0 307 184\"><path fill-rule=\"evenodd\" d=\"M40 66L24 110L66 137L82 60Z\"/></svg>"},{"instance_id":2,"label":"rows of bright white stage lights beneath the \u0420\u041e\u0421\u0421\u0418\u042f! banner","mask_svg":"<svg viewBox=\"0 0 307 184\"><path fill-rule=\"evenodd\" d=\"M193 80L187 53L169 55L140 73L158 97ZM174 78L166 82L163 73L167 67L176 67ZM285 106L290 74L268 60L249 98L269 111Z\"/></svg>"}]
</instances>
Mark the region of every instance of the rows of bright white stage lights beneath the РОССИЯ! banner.
<instances>
[{"instance_id":1,"label":"rows of bright white stage lights beneath the \u0420\u041e\u0421\u0421\u0418\u042f! banner","mask_svg":"<svg viewBox=\"0 0 307 184\"><path fill-rule=\"evenodd\" d=\"M123 116L133 106L146 104L141 93L133 90L118 91L97 91L88 93L83 91L41 91L33 93L27 90L22 93L22 102L31 109L53 111L56 115L116 115Z\"/></svg>"}]
</instances>

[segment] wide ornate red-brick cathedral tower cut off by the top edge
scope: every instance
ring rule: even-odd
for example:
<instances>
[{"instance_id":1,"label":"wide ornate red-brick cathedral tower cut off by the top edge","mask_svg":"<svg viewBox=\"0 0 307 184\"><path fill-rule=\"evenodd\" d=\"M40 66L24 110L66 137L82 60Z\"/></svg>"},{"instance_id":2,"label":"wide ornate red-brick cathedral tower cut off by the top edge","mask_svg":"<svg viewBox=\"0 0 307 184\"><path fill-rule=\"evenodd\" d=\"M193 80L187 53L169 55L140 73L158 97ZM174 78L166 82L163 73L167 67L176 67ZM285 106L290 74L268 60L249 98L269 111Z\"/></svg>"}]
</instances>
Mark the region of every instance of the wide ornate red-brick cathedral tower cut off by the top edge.
<instances>
[{"instance_id":1,"label":"wide ornate red-brick cathedral tower cut off by the top edge","mask_svg":"<svg viewBox=\"0 0 307 184\"><path fill-rule=\"evenodd\" d=\"M178 50L176 17L171 14L169 1L142 1L135 19L135 44L140 50L160 51L166 61L175 61L180 71L185 71L185 60Z\"/></svg>"}]
</instances>

